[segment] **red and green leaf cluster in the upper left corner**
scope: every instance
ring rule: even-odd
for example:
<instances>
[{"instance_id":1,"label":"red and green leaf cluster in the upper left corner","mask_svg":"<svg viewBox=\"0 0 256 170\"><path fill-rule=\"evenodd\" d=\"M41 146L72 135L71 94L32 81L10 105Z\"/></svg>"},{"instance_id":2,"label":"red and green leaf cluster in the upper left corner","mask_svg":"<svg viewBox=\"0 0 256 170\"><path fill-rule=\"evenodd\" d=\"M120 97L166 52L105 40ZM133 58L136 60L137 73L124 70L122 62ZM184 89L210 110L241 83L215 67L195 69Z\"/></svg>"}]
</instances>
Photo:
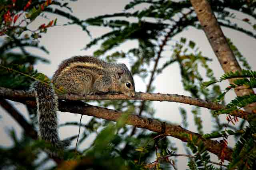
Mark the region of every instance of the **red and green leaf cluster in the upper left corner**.
<instances>
[{"instance_id":1,"label":"red and green leaf cluster in the upper left corner","mask_svg":"<svg viewBox=\"0 0 256 170\"><path fill-rule=\"evenodd\" d=\"M17 1L16 0L2 0L1 2L1 10L0 10L0 35L8 35L10 37L20 36L24 31L31 31L28 29L28 25L34 21L45 8L50 6L51 4L60 3L53 2L52 0L46 1L33 1L25 0ZM21 18L24 18L23 20ZM22 26L24 25L25 26ZM52 25L56 25L55 21L50 21L47 25L42 24L38 27L38 29L31 31L31 38L38 39L41 37L40 33L47 31L48 27Z\"/></svg>"}]
</instances>

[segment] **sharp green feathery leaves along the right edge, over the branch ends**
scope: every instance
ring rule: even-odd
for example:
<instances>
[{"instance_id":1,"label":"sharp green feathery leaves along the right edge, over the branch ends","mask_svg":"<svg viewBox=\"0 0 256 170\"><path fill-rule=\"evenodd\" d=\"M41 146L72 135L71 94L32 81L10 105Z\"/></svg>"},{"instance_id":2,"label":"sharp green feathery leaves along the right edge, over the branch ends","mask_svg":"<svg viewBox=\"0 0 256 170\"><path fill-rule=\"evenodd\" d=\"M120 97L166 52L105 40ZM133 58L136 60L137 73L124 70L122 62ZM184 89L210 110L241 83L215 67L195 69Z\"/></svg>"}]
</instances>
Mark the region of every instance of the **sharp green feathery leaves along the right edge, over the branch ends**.
<instances>
[{"instance_id":1,"label":"sharp green feathery leaves along the right edge, over the branch ends","mask_svg":"<svg viewBox=\"0 0 256 170\"><path fill-rule=\"evenodd\" d=\"M220 81L230 79L230 78L240 78L240 79L236 79L234 81L234 84L230 84L230 87L226 88L226 92L221 94L218 97L218 99L224 98L224 95L228 92L228 90L232 88L236 88L239 86L246 86L247 88L255 88L255 80L254 80L255 75L256 75L256 72L252 70L242 70L242 72L230 72L222 75L222 77L220 78ZM250 78L250 80L248 80L247 78ZM210 82L209 84L212 84L212 82ZM215 111L215 113L228 114L231 111L248 106L249 104L252 104L254 102L256 102L255 94L237 96L234 100L232 100L229 104L227 104L224 109ZM251 114L250 119L248 121L249 126L247 126L244 129L240 127L238 131L238 133L242 135L240 136L239 141L236 143L236 146L234 147L234 152L232 155L233 160L228 165L228 169L236 169L236 168L253 169L256 166L255 164L256 142L255 142L255 136L254 136L254 133L256 131L256 126L255 126L256 119L255 119L254 113L249 113L249 114ZM238 118L237 117L232 118L230 115L228 115L227 121L228 123L232 122L232 124L235 125L235 123L238 122ZM226 130L225 128L224 131L220 131L220 132L214 131L211 134L204 135L204 137L205 138L223 137L223 141L227 145L228 141L226 139L228 139L228 135L237 135L237 133L231 130Z\"/></svg>"}]
</instances>

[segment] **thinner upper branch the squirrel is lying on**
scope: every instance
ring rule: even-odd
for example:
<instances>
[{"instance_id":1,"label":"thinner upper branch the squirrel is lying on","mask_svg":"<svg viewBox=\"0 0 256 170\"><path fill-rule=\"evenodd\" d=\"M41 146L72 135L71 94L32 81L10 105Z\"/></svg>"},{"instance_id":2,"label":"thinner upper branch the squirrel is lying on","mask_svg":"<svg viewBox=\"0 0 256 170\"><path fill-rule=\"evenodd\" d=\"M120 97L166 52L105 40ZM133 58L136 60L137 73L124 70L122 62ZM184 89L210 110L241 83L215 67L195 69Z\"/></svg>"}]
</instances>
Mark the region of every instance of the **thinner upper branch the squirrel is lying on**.
<instances>
[{"instance_id":1,"label":"thinner upper branch the squirrel is lying on","mask_svg":"<svg viewBox=\"0 0 256 170\"><path fill-rule=\"evenodd\" d=\"M34 104L33 100L35 95L33 92L26 92L22 90L12 90L8 88L0 87L0 97L7 98L16 102L24 100L28 105ZM137 92L134 97L128 97L124 94L104 94L104 95L90 95L90 96L79 96L75 94L59 94L58 98L60 100L151 100L160 102L177 102L183 104L189 104L193 106L205 107L211 110L220 110L226 106L218 104L216 102L210 102L208 100L192 98L190 96L183 96L178 94L160 94L160 93L143 93ZM247 119L249 113L236 110L232 111L230 115Z\"/></svg>"}]
</instances>

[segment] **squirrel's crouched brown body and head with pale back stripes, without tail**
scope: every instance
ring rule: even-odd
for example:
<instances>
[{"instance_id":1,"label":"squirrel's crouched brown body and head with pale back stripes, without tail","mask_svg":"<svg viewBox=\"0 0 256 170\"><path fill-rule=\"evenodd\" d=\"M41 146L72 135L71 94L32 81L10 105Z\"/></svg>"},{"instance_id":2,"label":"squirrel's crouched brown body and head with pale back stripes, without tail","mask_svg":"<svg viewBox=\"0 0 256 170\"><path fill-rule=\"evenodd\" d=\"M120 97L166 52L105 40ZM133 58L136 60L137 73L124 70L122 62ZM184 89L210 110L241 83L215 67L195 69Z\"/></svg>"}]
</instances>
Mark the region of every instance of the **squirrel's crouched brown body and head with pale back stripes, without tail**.
<instances>
[{"instance_id":1,"label":"squirrel's crouched brown body and head with pale back stripes, without tail","mask_svg":"<svg viewBox=\"0 0 256 170\"><path fill-rule=\"evenodd\" d=\"M117 78L117 72L124 73ZM74 56L62 61L52 77L56 88L71 94L122 93L134 96L134 80L125 64L106 63L96 57ZM131 88L126 87L131 84Z\"/></svg>"}]
</instances>

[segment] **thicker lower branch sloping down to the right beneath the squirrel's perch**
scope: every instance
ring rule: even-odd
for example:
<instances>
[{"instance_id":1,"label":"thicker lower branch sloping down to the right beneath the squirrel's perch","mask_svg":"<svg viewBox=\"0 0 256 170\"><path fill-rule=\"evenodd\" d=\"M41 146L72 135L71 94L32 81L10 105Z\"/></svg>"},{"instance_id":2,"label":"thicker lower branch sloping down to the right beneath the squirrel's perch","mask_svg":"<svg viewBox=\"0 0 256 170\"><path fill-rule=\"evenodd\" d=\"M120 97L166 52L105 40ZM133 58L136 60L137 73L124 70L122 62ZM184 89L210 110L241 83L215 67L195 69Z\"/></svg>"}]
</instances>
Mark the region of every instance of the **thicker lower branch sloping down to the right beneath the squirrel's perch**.
<instances>
[{"instance_id":1,"label":"thicker lower branch sloping down to the right beneath the squirrel's perch","mask_svg":"<svg viewBox=\"0 0 256 170\"><path fill-rule=\"evenodd\" d=\"M3 88L0 88L0 96L2 96L2 97L4 96L4 98L8 98L11 100L15 99L14 101L16 101L16 102L21 102L24 104L28 104L31 107L36 107L36 102L35 102L35 99L33 98L34 94L31 92L26 94L26 93L24 93L24 91L18 91L18 90L15 91L15 90L8 89L8 91L6 92L6 94L9 95L8 96L8 95L3 95L2 91L3 91ZM12 94L12 93L14 93L14 96L16 96L16 98L10 96L10 94ZM23 94L24 96L26 96L26 98L24 98L22 95L19 95L19 94ZM149 94L149 95L151 95L151 94ZM158 94L155 94L155 95L158 95ZM66 96L68 96L68 95L66 95ZM113 96L113 95L104 95L104 96ZM116 96L123 98L123 99L125 98L125 96L123 96L123 95L116 95ZM63 95L62 95L62 97L63 97ZM92 97L92 96L90 96L90 97ZM97 97L95 96L95 98L97 98ZM102 96L100 96L99 98L102 98ZM62 112L70 112L70 113L94 116L94 117L111 120L111 121L118 121L118 119L120 119L120 117L122 116L121 111L91 106L91 105L85 104L84 102L80 102L80 101L66 102L66 101L60 100L59 110ZM148 129L150 131L154 131L157 133L166 134L168 136L172 136L177 139L180 139L183 142L187 142L189 140L188 137L186 137L184 134L188 134L188 136L191 136L191 137L196 136L196 137L198 137L198 143L200 141L202 141L204 143L205 147L207 148L207 150L216 155L219 155L223 148L222 144L219 143L218 141L204 139L198 133L193 133L193 132L183 129L182 127L177 126L177 125L172 125L172 124L164 123L164 122L161 122L161 121L158 121L155 119L141 117L139 115L128 115L128 117L126 119L126 124L134 125L136 127L140 127L140 128L144 128L144 129ZM226 160L229 160L229 161L231 160L232 152L233 152L232 149L227 150L227 154L225 157Z\"/></svg>"}]
</instances>

